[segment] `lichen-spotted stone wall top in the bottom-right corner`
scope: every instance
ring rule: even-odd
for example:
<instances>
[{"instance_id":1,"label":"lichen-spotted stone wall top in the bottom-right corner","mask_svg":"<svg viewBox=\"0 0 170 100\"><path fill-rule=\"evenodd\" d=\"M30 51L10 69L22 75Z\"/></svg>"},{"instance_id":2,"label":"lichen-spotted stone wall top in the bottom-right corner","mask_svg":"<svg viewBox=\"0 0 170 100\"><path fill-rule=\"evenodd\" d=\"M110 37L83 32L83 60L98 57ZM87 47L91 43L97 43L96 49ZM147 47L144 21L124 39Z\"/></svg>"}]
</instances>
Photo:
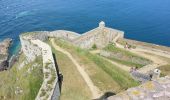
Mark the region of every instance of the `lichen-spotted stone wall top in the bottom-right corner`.
<instances>
[{"instance_id":1,"label":"lichen-spotted stone wall top in the bottom-right corner","mask_svg":"<svg viewBox=\"0 0 170 100\"><path fill-rule=\"evenodd\" d=\"M108 100L169 100L170 77L161 77L111 96Z\"/></svg>"}]
</instances>

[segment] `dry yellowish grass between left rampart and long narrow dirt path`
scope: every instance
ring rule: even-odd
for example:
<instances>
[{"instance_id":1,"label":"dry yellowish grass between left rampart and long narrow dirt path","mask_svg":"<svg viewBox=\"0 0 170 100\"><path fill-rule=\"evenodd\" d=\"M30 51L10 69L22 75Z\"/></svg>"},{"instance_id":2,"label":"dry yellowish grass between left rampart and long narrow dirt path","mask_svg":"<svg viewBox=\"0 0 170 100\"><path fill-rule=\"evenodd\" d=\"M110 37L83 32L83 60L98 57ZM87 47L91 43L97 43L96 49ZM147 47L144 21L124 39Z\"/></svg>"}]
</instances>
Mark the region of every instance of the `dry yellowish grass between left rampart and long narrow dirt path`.
<instances>
[{"instance_id":1,"label":"dry yellowish grass between left rampart and long narrow dirt path","mask_svg":"<svg viewBox=\"0 0 170 100\"><path fill-rule=\"evenodd\" d=\"M90 100L91 92L72 61L63 53L52 48L63 74L60 100Z\"/></svg>"}]
</instances>

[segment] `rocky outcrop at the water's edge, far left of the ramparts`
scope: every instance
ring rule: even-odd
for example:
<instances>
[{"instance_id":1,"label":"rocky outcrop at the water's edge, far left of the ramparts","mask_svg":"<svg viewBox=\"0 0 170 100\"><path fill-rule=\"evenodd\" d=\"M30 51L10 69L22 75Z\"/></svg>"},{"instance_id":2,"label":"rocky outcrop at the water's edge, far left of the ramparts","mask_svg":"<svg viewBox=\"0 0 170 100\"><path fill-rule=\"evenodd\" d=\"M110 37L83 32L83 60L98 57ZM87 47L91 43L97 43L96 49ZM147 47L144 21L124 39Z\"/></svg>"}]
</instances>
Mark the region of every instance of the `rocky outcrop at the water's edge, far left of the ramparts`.
<instances>
[{"instance_id":1,"label":"rocky outcrop at the water's edge, far left of the ramparts","mask_svg":"<svg viewBox=\"0 0 170 100\"><path fill-rule=\"evenodd\" d=\"M6 70L9 60L9 47L12 43L12 39L7 38L0 42L0 71Z\"/></svg>"}]
</instances>

